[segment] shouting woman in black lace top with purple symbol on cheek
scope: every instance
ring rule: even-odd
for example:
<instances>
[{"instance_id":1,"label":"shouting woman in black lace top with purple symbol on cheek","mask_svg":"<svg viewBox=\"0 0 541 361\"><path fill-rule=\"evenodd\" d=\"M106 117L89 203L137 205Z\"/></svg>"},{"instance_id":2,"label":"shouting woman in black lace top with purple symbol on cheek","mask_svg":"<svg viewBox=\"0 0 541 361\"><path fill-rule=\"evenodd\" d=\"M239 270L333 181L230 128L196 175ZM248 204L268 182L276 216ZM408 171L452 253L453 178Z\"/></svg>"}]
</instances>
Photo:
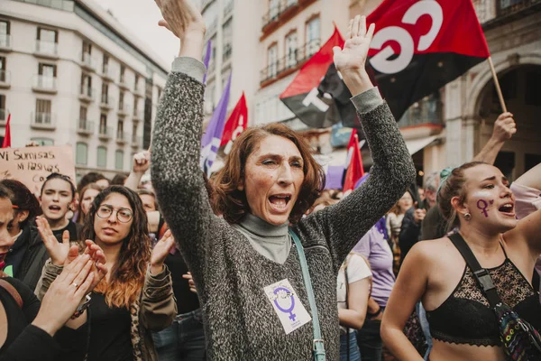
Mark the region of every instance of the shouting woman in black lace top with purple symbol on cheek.
<instances>
[{"instance_id":1,"label":"shouting woman in black lace top with purple symbol on cheek","mask_svg":"<svg viewBox=\"0 0 541 361\"><path fill-rule=\"evenodd\" d=\"M541 209L518 221L509 181L483 162L454 169L438 204L491 273L500 299L541 329L541 305L532 287L541 254ZM431 361L505 359L494 311L448 237L417 243L400 269L381 324L381 337L399 359L423 359L402 332L417 300L434 341Z\"/></svg>"}]
</instances>

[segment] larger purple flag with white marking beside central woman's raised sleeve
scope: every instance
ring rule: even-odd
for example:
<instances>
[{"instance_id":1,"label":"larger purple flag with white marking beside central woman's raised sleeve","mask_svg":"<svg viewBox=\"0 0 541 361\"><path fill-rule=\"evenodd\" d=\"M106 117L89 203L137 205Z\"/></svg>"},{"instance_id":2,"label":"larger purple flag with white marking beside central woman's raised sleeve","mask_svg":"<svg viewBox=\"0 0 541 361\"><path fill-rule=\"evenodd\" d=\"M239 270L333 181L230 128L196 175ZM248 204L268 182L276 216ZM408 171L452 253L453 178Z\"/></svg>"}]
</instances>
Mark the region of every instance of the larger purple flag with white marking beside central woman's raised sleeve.
<instances>
[{"instance_id":1,"label":"larger purple flag with white marking beside central woman's raised sleeve","mask_svg":"<svg viewBox=\"0 0 541 361\"><path fill-rule=\"evenodd\" d=\"M222 143L222 134L224 133L225 119L227 117L227 105L229 104L229 88L231 87L231 73L225 85L224 92L218 106L216 106L210 122L206 127L206 132L201 139L201 169L210 177L210 168L216 159L218 148Z\"/></svg>"}]
</instances>

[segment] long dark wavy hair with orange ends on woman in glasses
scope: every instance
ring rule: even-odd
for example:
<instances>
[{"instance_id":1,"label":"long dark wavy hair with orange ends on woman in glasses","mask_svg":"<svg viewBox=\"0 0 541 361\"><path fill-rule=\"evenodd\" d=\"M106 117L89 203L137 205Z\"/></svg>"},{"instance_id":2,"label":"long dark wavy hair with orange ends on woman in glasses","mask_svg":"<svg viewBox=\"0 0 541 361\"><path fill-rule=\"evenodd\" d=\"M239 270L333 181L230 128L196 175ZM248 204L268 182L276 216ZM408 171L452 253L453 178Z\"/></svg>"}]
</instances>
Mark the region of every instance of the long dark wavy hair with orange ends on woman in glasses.
<instances>
[{"instance_id":1,"label":"long dark wavy hair with orange ends on woman in glasses","mask_svg":"<svg viewBox=\"0 0 541 361\"><path fill-rule=\"evenodd\" d=\"M122 247L116 264L109 270L110 282L105 278L98 283L95 292L105 295L105 303L109 307L126 308L129 310L142 291L144 275L151 262L151 238L146 213L142 208L141 199L133 191L124 186L110 186L102 190L92 202L81 233L81 239L96 240L94 219L97 208L111 194L123 195L133 209L133 220L130 233L122 241Z\"/></svg>"}]
</instances>

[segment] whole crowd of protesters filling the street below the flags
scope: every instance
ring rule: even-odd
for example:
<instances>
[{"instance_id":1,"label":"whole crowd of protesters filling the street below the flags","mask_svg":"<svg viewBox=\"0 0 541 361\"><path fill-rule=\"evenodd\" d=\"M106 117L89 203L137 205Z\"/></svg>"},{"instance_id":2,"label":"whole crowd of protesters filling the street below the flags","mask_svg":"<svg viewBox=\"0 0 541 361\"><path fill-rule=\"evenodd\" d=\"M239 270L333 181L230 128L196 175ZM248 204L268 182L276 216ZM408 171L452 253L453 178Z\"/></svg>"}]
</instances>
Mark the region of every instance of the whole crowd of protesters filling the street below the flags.
<instances>
[{"instance_id":1,"label":"whole crowd of protesters filling the street below the flags","mask_svg":"<svg viewBox=\"0 0 541 361\"><path fill-rule=\"evenodd\" d=\"M157 5L181 47L131 173L51 173L37 195L0 180L0 360L541 359L541 164L510 187L492 165L510 113L417 186L356 16L334 51L373 159L360 185L325 190L280 124L246 129L207 179L205 23Z\"/></svg>"}]
</instances>

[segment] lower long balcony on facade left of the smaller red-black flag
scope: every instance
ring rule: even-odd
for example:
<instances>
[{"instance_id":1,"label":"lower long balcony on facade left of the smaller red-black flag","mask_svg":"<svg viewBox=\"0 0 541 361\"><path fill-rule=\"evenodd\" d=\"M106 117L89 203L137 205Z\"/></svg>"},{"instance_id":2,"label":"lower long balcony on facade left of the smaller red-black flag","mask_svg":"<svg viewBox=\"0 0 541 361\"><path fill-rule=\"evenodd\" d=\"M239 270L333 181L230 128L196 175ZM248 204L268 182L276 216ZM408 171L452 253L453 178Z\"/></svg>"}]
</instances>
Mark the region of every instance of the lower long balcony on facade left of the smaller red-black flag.
<instances>
[{"instance_id":1,"label":"lower long balcony on facade left of the smaller red-black flag","mask_svg":"<svg viewBox=\"0 0 541 361\"><path fill-rule=\"evenodd\" d=\"M315 39L301 48L289 52L280 60L270 63L260 71L260 86L267 86L272 81L281 79L300 68L319 50L319 43L319 39Z\"/></svg>"}]
</instances>

